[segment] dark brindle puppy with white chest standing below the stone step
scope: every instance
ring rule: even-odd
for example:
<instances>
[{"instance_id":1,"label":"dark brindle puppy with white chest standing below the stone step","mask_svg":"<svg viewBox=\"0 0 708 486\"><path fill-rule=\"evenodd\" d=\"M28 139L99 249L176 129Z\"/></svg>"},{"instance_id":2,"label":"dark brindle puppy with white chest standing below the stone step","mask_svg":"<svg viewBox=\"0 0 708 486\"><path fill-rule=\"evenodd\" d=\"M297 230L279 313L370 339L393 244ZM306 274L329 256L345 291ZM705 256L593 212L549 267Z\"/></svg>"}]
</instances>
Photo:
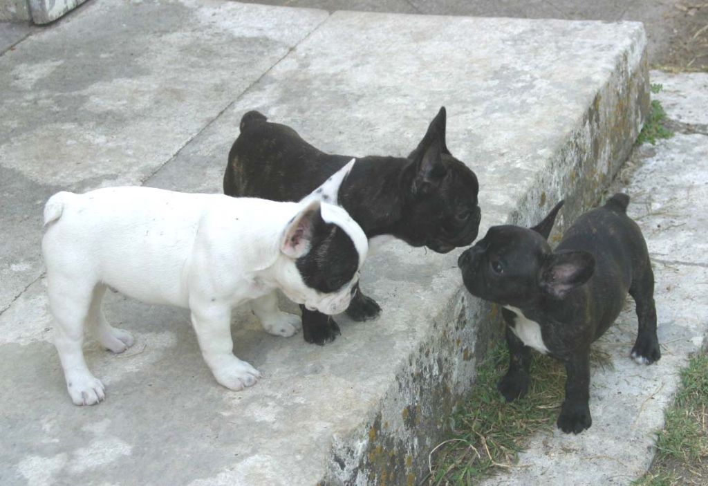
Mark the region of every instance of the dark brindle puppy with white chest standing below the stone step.
<instances>
[{"instance_id":1,"label":"dark brindle puppy with white chest standing below the stone step","mask_svg":"<svg viewBox=\"0 0 708 486\"><path fill-rule=\"evenodd\" d=\"M558 417L566 433L592 424L590 343L619 316L627 292L639 318L632 358L641 364L661 358L649 253L627 204L627 195L616 194L583 214L552 251L546 240L561 201L531 229L490 228L458 260L470 294L504 307L510 363L497 388L507 401L527 391L531 348L566 365L566 399Z\"/></svg>"}]
</instances>

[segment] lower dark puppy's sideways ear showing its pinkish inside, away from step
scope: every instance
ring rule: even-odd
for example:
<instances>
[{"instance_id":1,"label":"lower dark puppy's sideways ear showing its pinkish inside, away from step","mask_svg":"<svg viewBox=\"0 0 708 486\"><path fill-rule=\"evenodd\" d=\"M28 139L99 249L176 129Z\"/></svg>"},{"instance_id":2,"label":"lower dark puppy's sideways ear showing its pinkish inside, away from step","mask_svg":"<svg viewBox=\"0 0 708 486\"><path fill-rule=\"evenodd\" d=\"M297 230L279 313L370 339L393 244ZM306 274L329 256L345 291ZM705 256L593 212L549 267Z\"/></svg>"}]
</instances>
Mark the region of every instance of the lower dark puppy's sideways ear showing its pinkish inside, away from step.
<instances>
[{"instance_id":1,"label":"lower dark puppy's sideways ear showing its pinkish inside, away from step","mask_svg":"<svg viewBox=\"0 0 708 486\"><path fill-rule=\"evenodd\" d=\"M588 282L593 272L595 258L586 251L552 253L541 267L539 285L550 296L563 299L569 291Z\"/></svg>"}]
</instances>

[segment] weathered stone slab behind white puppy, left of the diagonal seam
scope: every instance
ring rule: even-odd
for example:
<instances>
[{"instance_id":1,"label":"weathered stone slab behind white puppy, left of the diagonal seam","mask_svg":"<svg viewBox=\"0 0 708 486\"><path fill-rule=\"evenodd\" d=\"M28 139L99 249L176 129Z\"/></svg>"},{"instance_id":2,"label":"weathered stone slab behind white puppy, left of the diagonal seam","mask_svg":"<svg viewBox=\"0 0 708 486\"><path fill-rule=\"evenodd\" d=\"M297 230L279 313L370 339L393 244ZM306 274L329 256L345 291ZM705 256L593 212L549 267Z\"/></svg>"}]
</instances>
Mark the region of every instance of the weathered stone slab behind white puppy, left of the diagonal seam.
<instances>
[{"instance_id":1,"label":"weathered stone slab behind white puppy, left of the diagonal seam","mask_svg":"<svg viewBox=\"0 0 708 486\"><path fill-rule=\"evenodd\" d=\"M57 188L140 184L327 17L202 2L96 1L0 57L0 311L42 272ZM159 18L159 21L158 21Z\"/></svg>"}]
</instances>

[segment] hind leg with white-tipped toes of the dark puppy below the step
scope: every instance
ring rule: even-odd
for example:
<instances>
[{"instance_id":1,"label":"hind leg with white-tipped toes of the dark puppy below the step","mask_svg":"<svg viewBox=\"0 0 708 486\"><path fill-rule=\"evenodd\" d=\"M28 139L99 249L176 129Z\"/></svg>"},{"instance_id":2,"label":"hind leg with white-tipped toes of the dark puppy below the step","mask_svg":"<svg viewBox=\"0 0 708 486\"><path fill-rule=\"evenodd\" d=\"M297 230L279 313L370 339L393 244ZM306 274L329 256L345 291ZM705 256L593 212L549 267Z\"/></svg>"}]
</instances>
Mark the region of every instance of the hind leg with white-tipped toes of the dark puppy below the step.
<instances>
[{"instance_id":1,"label":"hind leg with white-tipped toes of the dark puppy below the step","mask_svg":"<svg viewBox=\"0 0 708 486\"><path fill-rule=\"evenodd\" d=\"M652 364L661 358L661 349L656 337L656 306L654 306L654 274L646 262L646 272L629 288L629 295L636 305L639 329L632 347L632 359L639 364Z\"/></svg>"}]
</instances>

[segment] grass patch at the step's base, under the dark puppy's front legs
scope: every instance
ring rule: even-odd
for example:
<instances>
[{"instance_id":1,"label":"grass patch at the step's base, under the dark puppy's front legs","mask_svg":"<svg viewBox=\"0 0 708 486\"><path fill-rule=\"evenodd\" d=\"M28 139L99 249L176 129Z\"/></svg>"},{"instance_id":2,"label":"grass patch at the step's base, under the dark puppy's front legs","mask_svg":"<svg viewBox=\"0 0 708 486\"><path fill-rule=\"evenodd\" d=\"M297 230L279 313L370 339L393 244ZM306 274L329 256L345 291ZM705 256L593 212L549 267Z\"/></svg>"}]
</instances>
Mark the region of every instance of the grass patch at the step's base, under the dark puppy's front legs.
<instances>
[{"instance_id":1,"label":"grass patch at the step's base, under the dark puppy's front legs","mask_svg":"<svg viewBox=\"0 0 708 486\"><path fill-rule=\"evenodd\" d=\"M477 369L477 376L464 405L452 416L452 439L430 454L433 485L469 485L513 467L518 452L540 430L552 430L565 396L565 367L542 354L532 354L529 392L506 403L496 382L508 366L506 342L500 342ZM593 365L612 366L610 356L595 351Z\"/></svg>"}]
</instances>

